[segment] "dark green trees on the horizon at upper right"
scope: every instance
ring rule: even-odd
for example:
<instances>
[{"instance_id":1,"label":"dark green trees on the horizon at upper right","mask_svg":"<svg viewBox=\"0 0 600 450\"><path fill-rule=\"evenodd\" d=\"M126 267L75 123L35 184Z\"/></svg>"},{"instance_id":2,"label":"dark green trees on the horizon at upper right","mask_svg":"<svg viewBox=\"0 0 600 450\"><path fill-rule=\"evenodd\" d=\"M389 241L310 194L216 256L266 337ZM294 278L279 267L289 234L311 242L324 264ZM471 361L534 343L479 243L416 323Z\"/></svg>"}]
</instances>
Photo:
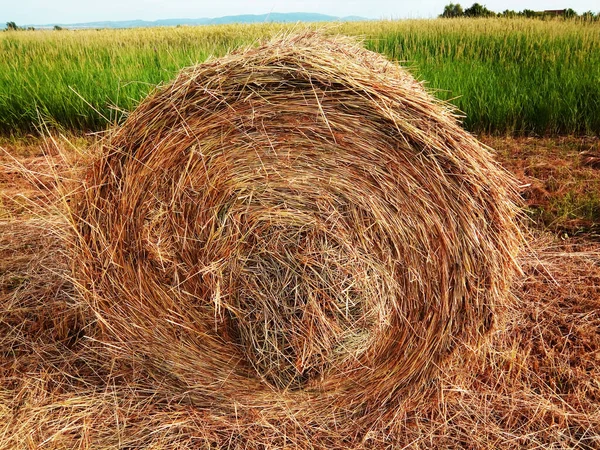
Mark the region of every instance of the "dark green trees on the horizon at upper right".
<instances>
[{"instance_id":1,"label":"dark green trees on the horizon at upper right","mask_svg":"<svg viewBox=\"0 0 600 450\"><path fill-rule=\"evenodd\" d=\"M440 14L443 18L453 17L527 17L538 19L549 19L553 17L563 17L565 19L582 19L582 20L600 20L600 12L594 14L592 11L587 11L581 15L572 8L549 10L549 11L533 11L524 9L523 11L514 11L506 9L501 13L496 13L481 5L473 3L469 8L463 9L459 3L449 3L444 7L444 12Z\"/></svg>"}]
</instances>

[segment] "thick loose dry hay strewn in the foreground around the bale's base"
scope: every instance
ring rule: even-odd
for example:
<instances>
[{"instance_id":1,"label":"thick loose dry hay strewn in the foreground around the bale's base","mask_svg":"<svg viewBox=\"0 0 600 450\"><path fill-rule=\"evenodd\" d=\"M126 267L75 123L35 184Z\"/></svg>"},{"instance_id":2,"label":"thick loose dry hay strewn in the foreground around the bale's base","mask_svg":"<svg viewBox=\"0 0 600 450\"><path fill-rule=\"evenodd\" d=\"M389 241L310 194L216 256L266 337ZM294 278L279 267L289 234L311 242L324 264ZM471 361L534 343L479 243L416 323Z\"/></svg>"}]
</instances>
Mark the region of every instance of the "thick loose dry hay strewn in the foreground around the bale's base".
<instances>
[{"instance_id":1,"label":"thick loose dry hay strewn in the foreground around the bale's base","mask_svg":"<svg viewBox=\"0 0 600 450\"><path fill-rule=\"evenodd\" d=\"M472 364L465 370L455 352L434 398L387 428L344 435L318 417L294 427L257 414L234 426L111 357L50 231L47 218L0 222L2 450L600 448L598 244L531 242L513 285L519 301Z\"/></svg>"}]
</instances>

